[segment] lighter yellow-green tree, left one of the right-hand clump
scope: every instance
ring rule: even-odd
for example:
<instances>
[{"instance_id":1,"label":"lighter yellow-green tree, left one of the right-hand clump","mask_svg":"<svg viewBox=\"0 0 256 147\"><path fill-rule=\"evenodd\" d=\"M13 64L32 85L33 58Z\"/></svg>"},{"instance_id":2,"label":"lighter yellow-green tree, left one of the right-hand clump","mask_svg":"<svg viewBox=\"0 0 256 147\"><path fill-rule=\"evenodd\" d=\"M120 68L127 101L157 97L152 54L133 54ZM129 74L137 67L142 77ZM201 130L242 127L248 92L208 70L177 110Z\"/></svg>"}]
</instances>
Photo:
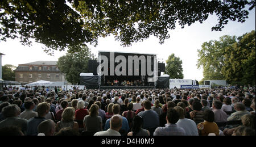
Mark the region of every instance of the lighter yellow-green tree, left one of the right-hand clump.
<instances>
[{"instance_id":1,"label":"lighter yellow-green tree, left one of the right-hand clump","mask_svg":"<svg viewBox=\"0 0 256 147\"><path fill-rule=\"evenodd\" d=\"M197 68L203 68L204 80L207 79L225 79L222 73L224 66L225 49L236 43L236 36L222 36L220 41L210 40L203 43L201 49L198 49Z\"/></svg>"}]
</instances>

